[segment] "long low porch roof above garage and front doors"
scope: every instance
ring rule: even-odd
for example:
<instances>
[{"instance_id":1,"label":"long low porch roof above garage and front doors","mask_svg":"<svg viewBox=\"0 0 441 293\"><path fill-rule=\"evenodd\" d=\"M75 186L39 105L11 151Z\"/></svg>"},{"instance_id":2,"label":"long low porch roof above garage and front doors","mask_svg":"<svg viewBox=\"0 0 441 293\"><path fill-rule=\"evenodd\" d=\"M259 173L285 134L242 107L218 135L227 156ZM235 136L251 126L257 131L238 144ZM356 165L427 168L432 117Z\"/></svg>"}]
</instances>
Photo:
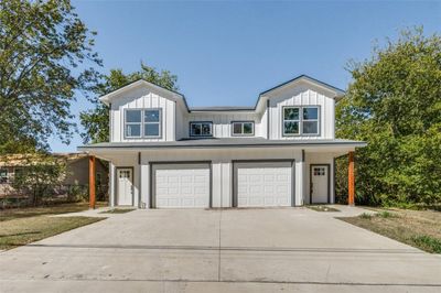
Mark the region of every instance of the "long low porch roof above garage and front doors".
<instances>
[{"instance_id":1,"label":"long low porch roof above garage and front doors","mask_svg":"<svg viewBox=\"0 0 441 293\"><path fill-rule=\"evenodd\" d=\"M266 139L192 139L164 142L101 142L78 146L78 150L96 149L163 149L163 148L271 148L271 146L366 146L364 141L353 140L266 140Z\"/></svg>"}]
</instances>

